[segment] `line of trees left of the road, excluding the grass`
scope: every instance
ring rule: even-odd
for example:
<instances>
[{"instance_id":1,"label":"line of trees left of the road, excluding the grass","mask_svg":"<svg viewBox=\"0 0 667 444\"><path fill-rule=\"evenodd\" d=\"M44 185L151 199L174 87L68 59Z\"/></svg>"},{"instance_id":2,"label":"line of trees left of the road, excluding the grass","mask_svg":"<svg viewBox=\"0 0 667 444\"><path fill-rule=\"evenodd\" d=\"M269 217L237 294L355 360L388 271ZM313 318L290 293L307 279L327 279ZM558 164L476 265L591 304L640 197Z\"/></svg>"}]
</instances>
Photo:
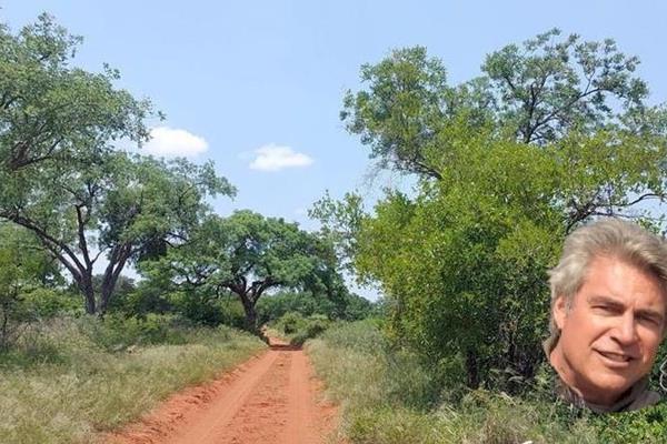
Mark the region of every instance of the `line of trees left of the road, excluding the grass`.
<instances>
[{"instance_id":1,"label":"line of trees left of the road, excluding the grass","mask_svg":"<svg viewBox=\"0 0 667 444\"><path fill-rule=\"evenodd\" d=\"M293 291L349 315L359 296L328 240L250 211L215 214L210 199L236 189L211 162L141 154L161 114L116 88L117 71L72 65L80 42L48 14L17 33L0 26L0 345L58 310L256 331L260 297Z\"/></svg>"}]
</instances>

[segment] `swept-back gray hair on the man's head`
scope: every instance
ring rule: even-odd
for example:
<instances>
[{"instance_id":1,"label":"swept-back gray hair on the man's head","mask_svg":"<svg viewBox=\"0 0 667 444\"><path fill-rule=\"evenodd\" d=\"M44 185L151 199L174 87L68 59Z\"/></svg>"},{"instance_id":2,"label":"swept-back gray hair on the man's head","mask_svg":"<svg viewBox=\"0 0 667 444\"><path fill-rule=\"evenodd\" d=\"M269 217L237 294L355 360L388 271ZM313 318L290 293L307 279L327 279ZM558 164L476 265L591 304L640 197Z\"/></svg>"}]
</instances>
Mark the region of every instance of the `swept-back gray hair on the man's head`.
<instances>
[{"instance_id":1,"label":"swept-back gray hair on the man's head","mask_svg":"<svg viewBox=\"0 0 667 444\"><path fill-rule=\"evenodd\" d=\"M571 305L575 294L584 285L590 263L599 256L617 258L653 274L667 295L667 246L663 238L635 223L613 218L580 226L566 238L560 262L549 271L551 335L545 343L548 351L552 350L560 336L554 321L556 300L563 296L568 306Z\"/></svg>"}]
</instances>

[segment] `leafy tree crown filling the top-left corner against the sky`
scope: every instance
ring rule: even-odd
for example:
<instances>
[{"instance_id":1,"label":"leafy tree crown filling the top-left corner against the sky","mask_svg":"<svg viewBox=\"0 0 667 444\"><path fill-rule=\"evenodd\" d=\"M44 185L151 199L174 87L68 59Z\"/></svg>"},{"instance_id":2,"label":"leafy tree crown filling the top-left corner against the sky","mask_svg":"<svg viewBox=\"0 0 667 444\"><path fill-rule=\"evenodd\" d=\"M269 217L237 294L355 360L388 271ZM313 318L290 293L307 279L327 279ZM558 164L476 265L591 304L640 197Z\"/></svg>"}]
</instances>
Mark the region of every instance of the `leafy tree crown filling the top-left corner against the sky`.
<instances>
[{"instance_id":1,"label":"leafy tree crown filling the top-left corner against the sky","mask_svg":"<svg viewBox=\"0 0 667 444\"><path fill-rule=\"evenodd\" d=\"M123 138L148 139L143 120L151 104L115 89L118 71L104 67L91 73L70 65L81 41L48 14L16 36L0 24L2 183L48 160L109 151Z\"/></svg>"}]
</instances>

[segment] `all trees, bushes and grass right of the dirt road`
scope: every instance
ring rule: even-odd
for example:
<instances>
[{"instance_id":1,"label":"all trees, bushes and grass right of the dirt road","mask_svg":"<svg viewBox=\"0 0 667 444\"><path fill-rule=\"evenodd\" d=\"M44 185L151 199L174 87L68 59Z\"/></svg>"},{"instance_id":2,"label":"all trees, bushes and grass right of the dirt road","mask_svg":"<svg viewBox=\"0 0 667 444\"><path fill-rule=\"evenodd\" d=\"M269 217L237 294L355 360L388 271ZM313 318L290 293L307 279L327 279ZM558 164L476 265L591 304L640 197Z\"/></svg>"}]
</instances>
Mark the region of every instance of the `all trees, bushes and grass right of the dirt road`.
<instances>
[{"instance_id":1,"label":"all trees, bushes and grass right of the dirt road","mask_svg":"<svg viewBox=\"0 0 667 444\"><path fill-rule=\"evenodd\" d=\"M341 120L378 171L414 186L385 189L371 210L354 192L311 210L386 296L376 347L355 340L374 343L360 327L311 345L352 442L667 440L664 404L573 417L538 390L564 238L599 216L665 230L667 108L649 103L637 64L610 39L551 30L457 85L421 47L361 67Z\"/></svg>"}]
</instances>

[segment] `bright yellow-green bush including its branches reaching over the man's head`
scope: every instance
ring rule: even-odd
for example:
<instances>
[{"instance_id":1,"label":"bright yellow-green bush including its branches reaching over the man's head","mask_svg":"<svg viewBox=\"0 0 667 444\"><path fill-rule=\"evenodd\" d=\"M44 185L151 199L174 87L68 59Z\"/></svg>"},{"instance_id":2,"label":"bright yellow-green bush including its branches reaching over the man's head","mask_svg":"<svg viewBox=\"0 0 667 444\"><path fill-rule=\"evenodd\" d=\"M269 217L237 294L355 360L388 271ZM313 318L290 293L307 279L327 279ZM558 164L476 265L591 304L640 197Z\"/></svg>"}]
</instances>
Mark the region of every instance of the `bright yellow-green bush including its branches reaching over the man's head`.
<instances>
[{"instance_id":1,"label":"bright yellow-green bush including its branches reaching over the man's head","mask_svg":"<svg viewBox=\"0 0 667 444\"><path fill-rule=\"evenodd\" d=\"M607 199L619 205L647 186L660 193L655 165L667 145L598 133L538 149L461 125L440 180L412 199L388 192L361 222L355 265L387 294L395 339L434 362L461 355L470 386L491 369L531 377L549 311L546 271L573 221L590 215L571 213L570 202L610 183Z\"/></svg>"}]
</instances>

